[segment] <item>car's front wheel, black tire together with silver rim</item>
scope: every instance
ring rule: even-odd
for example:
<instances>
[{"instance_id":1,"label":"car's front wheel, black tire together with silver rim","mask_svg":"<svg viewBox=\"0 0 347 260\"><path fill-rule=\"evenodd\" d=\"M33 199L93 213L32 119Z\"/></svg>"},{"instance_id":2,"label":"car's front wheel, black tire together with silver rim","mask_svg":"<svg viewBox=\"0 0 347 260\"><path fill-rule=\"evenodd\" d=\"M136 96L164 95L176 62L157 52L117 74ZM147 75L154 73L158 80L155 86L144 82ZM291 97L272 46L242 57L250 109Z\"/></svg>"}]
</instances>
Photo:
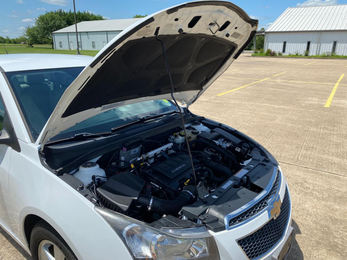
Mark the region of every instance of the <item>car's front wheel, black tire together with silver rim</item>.
<instances>
[{"instance_id":1,"label":"car's front wheel, black tire together with silver rim","mask_svg":"<svg viewBox=\"0 0 347 260\"><path fill-rule=\"evenodd\" d=\"M31 232L30 251L34 260L77 260L65 240L44 220Z\"/></svg>"}]
</instances>

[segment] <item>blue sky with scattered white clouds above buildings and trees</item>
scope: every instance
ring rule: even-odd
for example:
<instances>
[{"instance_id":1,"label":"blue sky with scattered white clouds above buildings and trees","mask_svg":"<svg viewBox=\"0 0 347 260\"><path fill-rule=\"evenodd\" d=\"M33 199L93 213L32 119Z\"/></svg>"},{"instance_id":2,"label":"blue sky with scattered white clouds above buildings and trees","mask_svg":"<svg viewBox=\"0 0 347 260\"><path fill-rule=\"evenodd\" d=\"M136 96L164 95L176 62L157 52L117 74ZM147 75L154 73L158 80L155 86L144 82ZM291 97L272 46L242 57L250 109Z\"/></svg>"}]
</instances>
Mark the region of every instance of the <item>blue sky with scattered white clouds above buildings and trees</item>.
<instances>
[{"instance_id":1,"label":"blue sky with scattered white clouds above buildings and trees","mask_svg":"<svg viewBox=\"0 0 347 260\"><path fill-rule=\"evenodd\" d=\"M73 0L1 0L0 36L16 38L35 17L45 11L73 10ZM107 19L132 18L135 14L153 12L178 5L184 0L75 0L76 10L87 10ZM347 4L347 0L231 0L254 19L259 19L259 29L265 29L288 7Z\"/></svg>"}]
</instances>

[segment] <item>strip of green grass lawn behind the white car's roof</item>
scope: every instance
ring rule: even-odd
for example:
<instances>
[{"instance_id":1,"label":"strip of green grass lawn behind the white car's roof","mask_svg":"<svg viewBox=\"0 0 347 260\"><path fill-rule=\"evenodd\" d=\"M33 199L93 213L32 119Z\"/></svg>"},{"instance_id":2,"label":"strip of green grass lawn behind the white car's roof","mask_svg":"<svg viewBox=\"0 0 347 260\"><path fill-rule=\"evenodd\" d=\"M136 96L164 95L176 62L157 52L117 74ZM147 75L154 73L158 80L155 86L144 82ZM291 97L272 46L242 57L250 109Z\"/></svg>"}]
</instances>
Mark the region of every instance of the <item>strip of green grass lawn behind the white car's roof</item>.
<instances>
[{"instance_id":1,"label":"strip of green grass lawn behind the white car's roof","mask_svg":"<svg viewBox=\"0 0 347 260\"><path fill-rule=\"evenodd\" d=\"M76 54L77 50L54 50L48 47L6 47L9 54L13 53L55 53L55 54ZM82 55L95 56L99 51L80 51ZM0 54L6 54L3 46L0 45Z\"/></svg>"}]
</instances>

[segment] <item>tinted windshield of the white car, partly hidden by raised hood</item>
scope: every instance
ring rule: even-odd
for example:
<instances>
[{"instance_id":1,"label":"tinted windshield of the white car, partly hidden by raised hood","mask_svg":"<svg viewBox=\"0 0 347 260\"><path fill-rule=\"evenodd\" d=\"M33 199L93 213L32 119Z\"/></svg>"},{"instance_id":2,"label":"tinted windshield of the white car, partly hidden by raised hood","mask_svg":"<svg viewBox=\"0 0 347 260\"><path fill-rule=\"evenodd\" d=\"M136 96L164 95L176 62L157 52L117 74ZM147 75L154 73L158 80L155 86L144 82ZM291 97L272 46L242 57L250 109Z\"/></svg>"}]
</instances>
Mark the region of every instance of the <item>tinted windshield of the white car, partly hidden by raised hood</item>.
<instances>
[{"instance_id":1,"label":"tinted windshield of the white car, partly hidden by raised hood","mask_svg":"<svg viewBox=\"0 0 347 260\"><path fill-rule=\"evenodd\" d=\"M39 137L62 94L82 70L83 67L6 73L34 140ZM177 109L167 100L129 104L92 116L53 139L81 132L106 132L134 119L171 110Z\"/></svg>"}]
</instances>

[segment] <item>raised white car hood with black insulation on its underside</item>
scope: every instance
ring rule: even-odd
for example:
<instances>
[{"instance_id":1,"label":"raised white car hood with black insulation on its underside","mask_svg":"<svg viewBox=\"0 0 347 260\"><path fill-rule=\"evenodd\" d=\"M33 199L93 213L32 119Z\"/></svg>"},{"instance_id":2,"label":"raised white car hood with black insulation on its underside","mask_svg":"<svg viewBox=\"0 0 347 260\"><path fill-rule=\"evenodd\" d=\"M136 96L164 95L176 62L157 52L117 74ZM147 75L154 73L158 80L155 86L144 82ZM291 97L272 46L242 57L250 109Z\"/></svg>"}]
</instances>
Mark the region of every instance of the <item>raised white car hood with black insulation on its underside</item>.
<instances>
[{"instance_id":1,"label":"raised white car hood with black insulation on its underside","mask_svg":"<svg viewBox=\"0 0 347 260\"><path fill-rule=\"evenodd\" d=\"M36 144L96 114L131 103L191 104L253 40L258 20L227 1L195 1L137 21L113 38L66 89ZM68 64L67 64L68 65Z\"/></svg>"}]
</instances>

